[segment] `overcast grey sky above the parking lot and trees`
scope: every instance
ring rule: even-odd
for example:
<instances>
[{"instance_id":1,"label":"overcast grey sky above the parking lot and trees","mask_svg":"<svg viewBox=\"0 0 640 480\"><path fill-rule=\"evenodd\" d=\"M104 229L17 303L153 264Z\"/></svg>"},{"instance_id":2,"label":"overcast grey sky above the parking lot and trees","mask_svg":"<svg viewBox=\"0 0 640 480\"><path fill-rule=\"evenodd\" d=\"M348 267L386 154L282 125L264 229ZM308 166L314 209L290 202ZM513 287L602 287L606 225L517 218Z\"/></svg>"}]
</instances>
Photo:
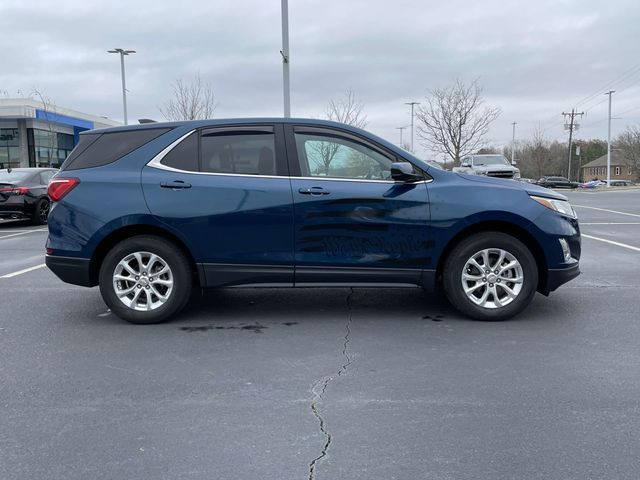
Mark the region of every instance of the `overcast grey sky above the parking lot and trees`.
<instances>
[{"instance_id":1,"label":"overcast grey sky above the parking lot and trees","mask_svg":"<svg viewBox=\"0 0 640 480\"><path fill-rule=\"evenodd\" d=\"M122 119L162 119L176 78L200 72L216 117L281 116L280 0L0 2L0 91L38 88L60 106ZM404 102L457 78L479 78L502 109L488 141L529 137L537 125L564 139L562 111L587 115L578 138L640 123L638 0L289 0L292 115L320 117L351 89L368 129L393 142L410 123ZM404 131L405 139L409 130ZM418 139L416 136L416 143ZM425 156L427 152L422 150Z\"/></svg>"}]
</instances>

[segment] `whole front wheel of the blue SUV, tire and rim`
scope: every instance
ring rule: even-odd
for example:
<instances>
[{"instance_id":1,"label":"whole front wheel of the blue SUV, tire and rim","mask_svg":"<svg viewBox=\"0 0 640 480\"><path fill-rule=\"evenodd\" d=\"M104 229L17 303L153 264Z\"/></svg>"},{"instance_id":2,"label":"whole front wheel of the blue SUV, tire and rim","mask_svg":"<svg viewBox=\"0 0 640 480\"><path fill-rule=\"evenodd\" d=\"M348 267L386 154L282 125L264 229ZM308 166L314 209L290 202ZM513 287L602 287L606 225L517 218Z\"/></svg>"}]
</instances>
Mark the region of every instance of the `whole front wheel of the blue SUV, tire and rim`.
<instances>
[{"instance_id":1,"label":"whole front wheel of the blue SUV, tire and rim","mask_svg":"<svg viewBox=\"0 0 640 480\"><path fill-rule=\"evenodd\" d=\"M445 262L445 293L460 312L476 320L506 320L536 293L538 268L529 249L499 232L474 234L456 245Z\"/></svg>"}]
</instances>

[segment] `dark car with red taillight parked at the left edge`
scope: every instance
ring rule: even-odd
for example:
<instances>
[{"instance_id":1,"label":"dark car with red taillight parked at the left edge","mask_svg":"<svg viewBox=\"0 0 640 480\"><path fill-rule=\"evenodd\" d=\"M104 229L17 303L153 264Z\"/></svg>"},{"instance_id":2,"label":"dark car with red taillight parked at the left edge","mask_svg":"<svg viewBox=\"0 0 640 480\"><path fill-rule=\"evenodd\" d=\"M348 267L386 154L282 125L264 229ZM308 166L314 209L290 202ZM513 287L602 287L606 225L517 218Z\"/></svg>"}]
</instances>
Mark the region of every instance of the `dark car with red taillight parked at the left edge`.
<instances>
[{"instance_id":1,"label":"dark car with red taillight parked at the left edge","mask_svg":"<svg viewBox=\"0 0 640 480\"><path fill-rule=\"evenodd\" d=\"M47 223L47 185L56 172L53 168L0 170L0 218L29 218L36 225Z\"/></svg>"}]
</instances>

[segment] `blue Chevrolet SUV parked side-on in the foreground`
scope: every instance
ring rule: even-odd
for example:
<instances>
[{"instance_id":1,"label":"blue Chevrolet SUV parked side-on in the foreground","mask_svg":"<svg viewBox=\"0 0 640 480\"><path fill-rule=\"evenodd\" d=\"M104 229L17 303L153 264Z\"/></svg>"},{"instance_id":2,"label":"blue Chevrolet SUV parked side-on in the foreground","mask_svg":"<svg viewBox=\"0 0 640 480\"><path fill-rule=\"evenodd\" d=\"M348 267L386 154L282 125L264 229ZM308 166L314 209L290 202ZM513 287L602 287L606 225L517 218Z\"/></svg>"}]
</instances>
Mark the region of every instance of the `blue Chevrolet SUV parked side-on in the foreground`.
<instances>
[{"instance_id":1,"label":"blue Chevrolet SUV parked side-on in the foreground","mask_svg":"<svg viewBox=\"0 0 640 480\"><path fill-rule=\"evenodd\" d=\"M194 288L422 287L503 320L579 273L563 195L305 119L92 130L49 184L48 267L133 323Z\"/></svg>"}]
</instances>

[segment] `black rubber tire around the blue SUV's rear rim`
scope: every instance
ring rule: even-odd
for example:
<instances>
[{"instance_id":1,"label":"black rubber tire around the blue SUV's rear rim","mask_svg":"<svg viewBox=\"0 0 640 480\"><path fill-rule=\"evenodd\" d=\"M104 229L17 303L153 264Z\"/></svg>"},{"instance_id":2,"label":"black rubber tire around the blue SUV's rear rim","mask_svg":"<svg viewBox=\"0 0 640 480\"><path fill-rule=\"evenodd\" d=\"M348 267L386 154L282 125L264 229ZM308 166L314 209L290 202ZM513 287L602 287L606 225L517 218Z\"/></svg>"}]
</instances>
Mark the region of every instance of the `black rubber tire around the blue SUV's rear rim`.
<instances>
[{"instance_id":1,"label":"black rubber tire around the blue SUV's rear rim","mask_svg":"<svg viewBox=\"0 0 640 480\"><path fill-rule=\"evenodd\" d=\"M164 304L153 310L141 311L128 307L118 298L113 285L116 267L121 260L135 252L157 255L170 268L172 290ZM100 267L99 283L102 298L118 317L136 324L160 323L179 313L188 303L192 290L191 267L182 250L172 242L161 237L140 235L123 240L107 253Z\"/></svg>"}]
</instances>

